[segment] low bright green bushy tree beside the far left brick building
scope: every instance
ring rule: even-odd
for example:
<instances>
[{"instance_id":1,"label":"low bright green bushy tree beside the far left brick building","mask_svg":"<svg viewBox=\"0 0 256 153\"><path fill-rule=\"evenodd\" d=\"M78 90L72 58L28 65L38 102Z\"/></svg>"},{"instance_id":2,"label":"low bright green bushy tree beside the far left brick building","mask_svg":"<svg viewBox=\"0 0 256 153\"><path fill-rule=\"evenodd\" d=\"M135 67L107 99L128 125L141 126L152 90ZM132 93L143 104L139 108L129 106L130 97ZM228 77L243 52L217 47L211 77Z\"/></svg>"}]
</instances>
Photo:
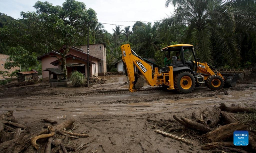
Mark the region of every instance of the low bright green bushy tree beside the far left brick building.
<instances>
[{"instance_id":1,"label":"low bright green bushy tree beside the far left brick building","mask_svg":"<svg viewBox=\"0 0 256 153\"><path fill-rule=\"evenodd\" d=\"M9 48L8 55L10 56L4 63L4 69L20 66L28 69L30 65L36 65L38 63L36 53L31 54L28 50L20 46Z\"/></svg>"}]
</instances>

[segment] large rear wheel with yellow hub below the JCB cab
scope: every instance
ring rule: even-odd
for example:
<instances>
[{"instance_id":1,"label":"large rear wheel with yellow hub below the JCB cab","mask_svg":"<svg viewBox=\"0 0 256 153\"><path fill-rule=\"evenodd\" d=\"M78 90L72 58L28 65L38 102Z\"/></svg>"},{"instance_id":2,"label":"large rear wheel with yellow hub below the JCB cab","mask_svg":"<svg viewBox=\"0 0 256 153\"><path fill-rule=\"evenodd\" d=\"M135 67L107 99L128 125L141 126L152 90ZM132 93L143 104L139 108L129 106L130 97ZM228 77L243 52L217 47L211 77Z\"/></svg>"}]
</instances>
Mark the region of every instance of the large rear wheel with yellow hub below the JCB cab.
<instances>
[{"instance_id":1,"label":"large rear wheel with yellow hub below the JCB cab","mask_svg":"<svg viewBox=\"0 0 256 153\"><path fill-rule=\"evenodd\" d=\"M195 89L195 78L188 71L178 73L174 77L174 88L179 93L190 93Z\"/></svg>"}]
</instances>

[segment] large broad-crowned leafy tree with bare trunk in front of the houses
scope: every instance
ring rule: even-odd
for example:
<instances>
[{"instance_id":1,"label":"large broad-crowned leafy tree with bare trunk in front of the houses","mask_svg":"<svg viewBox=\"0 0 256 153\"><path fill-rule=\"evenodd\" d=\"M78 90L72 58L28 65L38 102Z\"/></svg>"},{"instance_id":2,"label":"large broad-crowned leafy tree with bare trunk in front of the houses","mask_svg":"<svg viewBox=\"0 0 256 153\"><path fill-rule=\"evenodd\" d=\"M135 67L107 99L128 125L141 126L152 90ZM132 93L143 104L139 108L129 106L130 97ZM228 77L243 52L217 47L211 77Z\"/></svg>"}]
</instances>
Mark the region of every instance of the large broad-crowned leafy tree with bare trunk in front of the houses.
<instances>
[{"instance_id":1,"label":"large broad-crowned leafy tree with bare trunk in front of the houses","mask_svg":"<svg viewBox=\"0 0 256 153\"><path fill-rule=\"evenodd\" d=\"M66 79L65 56L70 47L84 42L88 23L91 29L96 26L96 12L91 8L86 10L84 3L75 0L66 0L62 6L37 1L34 8L36 12L21 12L21 25L24 25L23 29L25 29L21 37L27 37L30 41L24 43L28 47L37 46L41 53L50 50L58 51L62 57L61 63L64 79ZM15 25L12 26L15 27ZM16 29L19 31L18 27Z\"/></svg>"}]
</instances>

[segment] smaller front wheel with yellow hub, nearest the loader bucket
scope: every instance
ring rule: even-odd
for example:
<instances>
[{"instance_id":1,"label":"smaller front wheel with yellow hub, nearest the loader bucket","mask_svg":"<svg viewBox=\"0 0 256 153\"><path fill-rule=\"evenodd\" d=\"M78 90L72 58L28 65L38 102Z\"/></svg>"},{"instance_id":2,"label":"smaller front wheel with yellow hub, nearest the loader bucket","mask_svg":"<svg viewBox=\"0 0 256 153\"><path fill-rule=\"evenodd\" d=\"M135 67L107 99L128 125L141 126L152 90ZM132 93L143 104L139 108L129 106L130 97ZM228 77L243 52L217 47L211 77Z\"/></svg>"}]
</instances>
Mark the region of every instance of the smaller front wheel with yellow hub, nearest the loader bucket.
<instances>
[{"instance_id":1,"label":"smaller front wheel with yellow hub, nearest the loader bucket","mask_svg":"<svg viewBox=\"0 0 256 153\"><path fill-rule=\"evenodd\" d=\"M205 84L211 90L219 90L223 88L224 80L218 75L212 75L206 79Z\"/></svg>"}]
</instances>

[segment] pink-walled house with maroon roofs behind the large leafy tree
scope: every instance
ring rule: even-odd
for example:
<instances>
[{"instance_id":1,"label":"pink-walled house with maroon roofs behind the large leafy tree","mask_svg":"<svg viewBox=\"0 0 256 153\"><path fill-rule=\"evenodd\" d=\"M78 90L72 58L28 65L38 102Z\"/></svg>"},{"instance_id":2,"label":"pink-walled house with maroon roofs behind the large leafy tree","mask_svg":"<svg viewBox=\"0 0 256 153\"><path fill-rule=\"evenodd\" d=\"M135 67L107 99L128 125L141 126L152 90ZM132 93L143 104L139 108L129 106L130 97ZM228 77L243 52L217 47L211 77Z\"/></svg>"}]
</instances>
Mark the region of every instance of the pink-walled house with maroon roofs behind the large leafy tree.
<instances>
[{"instance_id":1,"label":"pink-walled house with maroon roofs behind the large leafy tree","mask_svg":"<svg viewBox=\"0 0 256 153\"><path fill-rule=\"evenodd\" d=\"M90 48L90 47L89 47ZM64 48L65 49L65 48ZM79 71L84 73L85 77L87 77L87 64L89 63L90 67L90 76L99 76L99 64L101 59L95 57L93 54L89 55L89 62L87 61L87 48L86 52L77 47L70 47L68 54L66 55L66 68L68 78L73 71ZM59 68L63 70L62 63L60 62L62 59L60 53L56 51L50 51L44 55L40 55L37 57L37 60L42 61L42 77L43 80L49 80L49 72L44 71L47 68Z\"/></svg>"}]
</instances>

